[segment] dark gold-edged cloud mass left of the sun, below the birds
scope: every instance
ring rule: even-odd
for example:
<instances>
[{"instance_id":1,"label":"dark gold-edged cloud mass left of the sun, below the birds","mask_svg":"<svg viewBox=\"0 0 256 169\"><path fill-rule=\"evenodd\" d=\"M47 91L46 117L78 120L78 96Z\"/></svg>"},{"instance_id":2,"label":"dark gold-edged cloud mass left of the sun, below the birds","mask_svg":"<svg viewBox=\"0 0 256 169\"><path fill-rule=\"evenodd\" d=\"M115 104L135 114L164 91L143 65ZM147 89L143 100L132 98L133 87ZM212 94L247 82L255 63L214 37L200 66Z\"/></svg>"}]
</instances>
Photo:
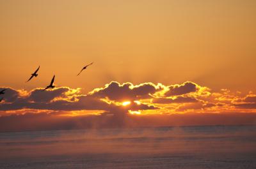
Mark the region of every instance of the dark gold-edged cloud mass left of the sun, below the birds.
<instances>
[{"instance_id":1,"label":"dark gold-edged cloud mass left of the sun, below the birds","mask_svg":"<svg viewBox=\"0 0 256 169\"><path fill-rule=\"evenodd\" d=\"M0 104L0 110L19 110L22 108L42 110L82 110L87 108L91 110L93 107L108 106L107 103L99 99L83 96L82 94L79 95L77 92L72 91L74 89L68 87L59 87L49 91L33 89L25 96L21 96L19 91L12 91L12 93L15 93L15 95L13 94L15 99L10 102L8 96L4 95L4 102ZM6 94L8 93L6 92ZM84 101L84 103L81 103L81 101Z\"/></svg>"}]
</instances>

